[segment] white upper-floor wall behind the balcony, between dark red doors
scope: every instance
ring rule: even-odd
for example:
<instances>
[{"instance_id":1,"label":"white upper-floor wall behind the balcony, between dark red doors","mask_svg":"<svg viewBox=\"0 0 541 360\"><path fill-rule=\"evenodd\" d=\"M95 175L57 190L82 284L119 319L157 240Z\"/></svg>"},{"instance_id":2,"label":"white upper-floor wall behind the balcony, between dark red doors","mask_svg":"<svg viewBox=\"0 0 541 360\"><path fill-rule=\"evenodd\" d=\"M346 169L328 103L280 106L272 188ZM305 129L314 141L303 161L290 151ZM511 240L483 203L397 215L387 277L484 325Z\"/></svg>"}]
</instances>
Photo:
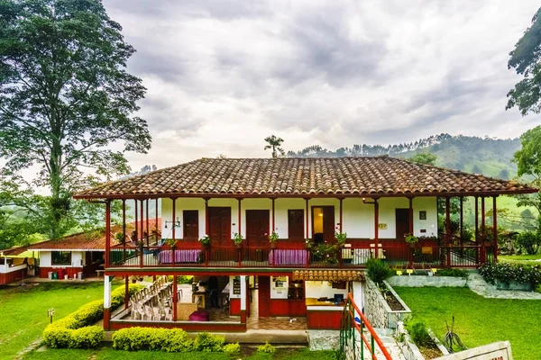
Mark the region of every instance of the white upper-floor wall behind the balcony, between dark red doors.
<instances>
[{"instance_id":1,"label":"white upper-floor wall behind the balcony, between dark red doors","mask_svg":"<svg viewBox=\"0 0 541 360\"><path fill-rule=\"evenodd\" d=\"M380 238L395 238L395 209L408 209L407 198L381 198L380 223L387 224L387 229L380 229ZM275 231L280 238L288 237L288 210L302 209L306 211L304 199L276 199L275 203ZM335 206L335 227L340 226L340 201L338 199L311 199L308 202L308 237L312 237L311 211L313 206ZM236 199L210 199L208 206L231 207L231 233L238 232L238 201ZM269 224L272 226L272 202L271 199L244 199L241 204L242 218L241 230L246 233L246 210L269 210ZM201 198L179 198L176 201L176 217L179 218L180 227L175 229L175 238L182 238L184 224L182 223L182 211L199 211L199 238L205 235L205 201ZM414 233L417 236L436 236L437 213L436 197L417 197L413 199L414 210ZM419 211L426 211L426 220L419 220ZM306 212L305 212L306 218ZM165 221L172 220L172 201L163 199L161 202L161 234L163 238L172 238L172 224L168 223L165 229ZM343 201L343 231L348 238L374 238L374 205L363 203L361 198L348 198ZM306 228L306 225L305 225ZM426 229L422 233L421 229ZM270 229L272 231L272 229Z\"/></svg>"}]
</instances>

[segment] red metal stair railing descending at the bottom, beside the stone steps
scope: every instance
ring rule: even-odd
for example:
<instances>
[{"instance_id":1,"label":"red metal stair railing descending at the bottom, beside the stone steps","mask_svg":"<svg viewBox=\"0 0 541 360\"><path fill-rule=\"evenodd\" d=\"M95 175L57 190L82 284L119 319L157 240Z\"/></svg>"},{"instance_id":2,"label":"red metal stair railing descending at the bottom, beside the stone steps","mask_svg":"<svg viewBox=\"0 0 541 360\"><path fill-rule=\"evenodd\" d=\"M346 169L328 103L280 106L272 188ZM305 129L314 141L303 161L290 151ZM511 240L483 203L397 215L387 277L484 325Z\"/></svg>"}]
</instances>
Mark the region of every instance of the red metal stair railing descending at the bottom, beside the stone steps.
<instances>
[{"instance_id":1,"label":"red metal stair railing descending at the bottom, beside the stone steps","mask_svg":"<svg viewBox=\"0 0 541 360\"><path fill-rule=\"evenodd\" d=\"M369 334L365 334L364 329L368 330L370 337L368 337ZM389 351L383 346L381 338L353 301L352 294L348 293L340 327L340 353L342 357L348 360L364 359L364 352L368 350L371 359L377 360L376 345L380 348L381 356L392 360Z\"/></svg>"}]
</instances>

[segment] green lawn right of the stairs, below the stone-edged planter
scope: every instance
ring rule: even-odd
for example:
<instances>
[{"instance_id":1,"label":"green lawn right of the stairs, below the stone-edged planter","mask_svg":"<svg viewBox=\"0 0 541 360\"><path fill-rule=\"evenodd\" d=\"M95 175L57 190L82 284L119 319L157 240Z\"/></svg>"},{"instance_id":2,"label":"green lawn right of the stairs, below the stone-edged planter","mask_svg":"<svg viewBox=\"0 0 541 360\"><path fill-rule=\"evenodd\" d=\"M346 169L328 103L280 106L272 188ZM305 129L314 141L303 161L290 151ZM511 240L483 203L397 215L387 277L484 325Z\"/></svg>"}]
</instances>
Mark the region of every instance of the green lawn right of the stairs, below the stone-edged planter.
<instances>
[{"instance_id":1,"label":"green lawn right of the stairs, below the stone-edged planter","mask_svg":"<svg viewBox=\"0 0 541 360\"><path fill-rule=\"evenodd\" d=\"M445 320L467 347L509 340L515 360L541 358L541 301L485 299L468 288L395 287L413 312L442 339Z\"/></svg>"}]
</instances>

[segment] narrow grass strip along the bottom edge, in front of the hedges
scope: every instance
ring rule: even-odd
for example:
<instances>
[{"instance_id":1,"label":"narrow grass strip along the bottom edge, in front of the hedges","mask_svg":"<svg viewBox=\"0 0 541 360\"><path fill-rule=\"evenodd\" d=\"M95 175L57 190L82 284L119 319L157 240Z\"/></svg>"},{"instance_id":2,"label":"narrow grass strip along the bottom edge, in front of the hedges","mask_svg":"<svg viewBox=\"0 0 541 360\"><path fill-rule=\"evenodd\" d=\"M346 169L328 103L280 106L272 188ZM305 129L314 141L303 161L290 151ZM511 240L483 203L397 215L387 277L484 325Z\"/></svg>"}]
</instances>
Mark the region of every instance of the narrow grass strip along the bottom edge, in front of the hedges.
<instances>
[{"instance_id":1,"label":"narrow grass strip along the bottom edge, in front of the hedges","mask_svg":"<svg viewBox=\"0 0 541 360\"><path fill-rule=\"evenodd\" d=\"M307 348L281 348L278 347L274 355L258 354L255 348L243 348L243 354L239 356L225 353L164 353L160 351L119 351L112 347L102 347L97 350L52 350L40 349L32 351L24 356L25 360L332 360L335 359L334 351L309 351Z\"/></svg>"}]
</instances>

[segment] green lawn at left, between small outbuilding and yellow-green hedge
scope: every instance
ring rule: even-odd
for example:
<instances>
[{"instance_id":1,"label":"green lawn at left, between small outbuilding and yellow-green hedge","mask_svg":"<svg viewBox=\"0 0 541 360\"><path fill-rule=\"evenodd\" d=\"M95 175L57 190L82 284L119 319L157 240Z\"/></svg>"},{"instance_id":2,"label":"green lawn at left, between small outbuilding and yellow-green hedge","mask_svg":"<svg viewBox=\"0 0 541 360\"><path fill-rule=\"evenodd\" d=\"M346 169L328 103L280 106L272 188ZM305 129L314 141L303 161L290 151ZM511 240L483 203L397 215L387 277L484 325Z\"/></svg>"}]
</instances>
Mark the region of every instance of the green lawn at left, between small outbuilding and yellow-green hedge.
<instances>
[{"instance_id":1,"label":"green lawn at left, between small outbuilding and yellow-green hedge","mask_svg":"<svg viewBox=\"0 0 541 360\"><path fill-rule=\"evenodd\" d=\"M12 359L41 337L49 323L47 310L60 319L79 306L103 299L102 283L38 283L0 290L0 359Z\"/></svg>"}]
</instances>

